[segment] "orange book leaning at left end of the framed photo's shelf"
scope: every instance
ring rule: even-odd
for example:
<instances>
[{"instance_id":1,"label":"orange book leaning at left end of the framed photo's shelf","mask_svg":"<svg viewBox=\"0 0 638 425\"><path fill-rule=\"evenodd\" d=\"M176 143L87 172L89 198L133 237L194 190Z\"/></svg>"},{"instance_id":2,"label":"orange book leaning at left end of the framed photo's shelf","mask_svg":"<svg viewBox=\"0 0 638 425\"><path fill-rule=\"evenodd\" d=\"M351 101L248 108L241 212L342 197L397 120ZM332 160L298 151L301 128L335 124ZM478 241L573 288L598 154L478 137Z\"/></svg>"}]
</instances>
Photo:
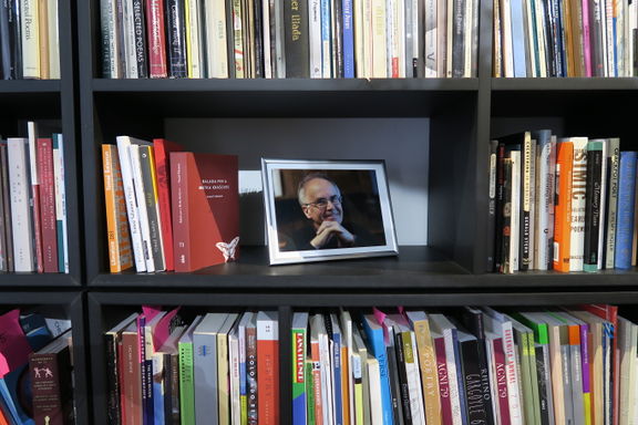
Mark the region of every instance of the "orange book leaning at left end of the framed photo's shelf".
<instances>
[{"instance_id":1,"label":"orange book leaning at left end of the framed photo's shelf","mask_svg":"<svg viewBox=\"0 0 638 425\"><path fill-rule=\"evenodd\" d=\"M109 267L112 273L117 273L133 267L133 249L126 219L122 170L117 149L114 145L102 145L102 167L104 174Z\"/></svg>"}]
</instances>

